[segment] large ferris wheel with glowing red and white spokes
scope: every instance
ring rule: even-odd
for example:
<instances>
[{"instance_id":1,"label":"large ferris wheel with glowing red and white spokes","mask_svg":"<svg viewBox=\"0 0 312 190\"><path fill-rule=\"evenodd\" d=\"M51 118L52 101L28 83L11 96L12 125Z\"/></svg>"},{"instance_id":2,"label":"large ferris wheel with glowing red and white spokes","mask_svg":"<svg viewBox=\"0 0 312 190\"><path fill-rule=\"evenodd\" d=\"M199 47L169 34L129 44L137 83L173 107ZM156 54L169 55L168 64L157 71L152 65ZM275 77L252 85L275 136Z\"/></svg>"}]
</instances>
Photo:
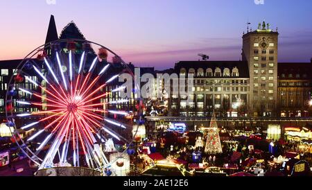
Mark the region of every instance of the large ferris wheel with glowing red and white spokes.
<instances>
[{"instance_id":1,"label":"large ferris wheel with glowing red and white spokes","mask_svg":"<svg viewBox=\"0 0 312 190\"><path fill-rule=\"evenodd\" d=\"M98 49L98 53L95 53ZM57 40L21 61L8 85L6 115L19 148L38 166L110 167L102 144L131 144L135 99L121 98L132 70L110 49Z\"/></svg>"}]
</instances>

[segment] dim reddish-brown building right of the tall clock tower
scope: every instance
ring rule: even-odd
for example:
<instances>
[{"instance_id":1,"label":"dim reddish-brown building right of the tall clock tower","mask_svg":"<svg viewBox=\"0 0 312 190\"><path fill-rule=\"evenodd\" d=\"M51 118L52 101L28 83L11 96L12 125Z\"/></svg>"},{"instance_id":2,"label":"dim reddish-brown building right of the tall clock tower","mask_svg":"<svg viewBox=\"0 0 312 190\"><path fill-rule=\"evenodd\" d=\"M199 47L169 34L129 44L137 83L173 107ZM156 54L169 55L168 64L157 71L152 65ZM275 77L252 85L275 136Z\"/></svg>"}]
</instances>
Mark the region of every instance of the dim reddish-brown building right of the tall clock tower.
<instances>
[{"instance_id":1,"label":"dim reddish-brown building right of the tall clock tower","mask_svg":"<svg viewBox=\"0 0 312 190\"><path fill-rule=\"evenodd\" d=\"M311 116L311 62L278 64L278 112L281 117Z\"/></svg>"}]
</instances>

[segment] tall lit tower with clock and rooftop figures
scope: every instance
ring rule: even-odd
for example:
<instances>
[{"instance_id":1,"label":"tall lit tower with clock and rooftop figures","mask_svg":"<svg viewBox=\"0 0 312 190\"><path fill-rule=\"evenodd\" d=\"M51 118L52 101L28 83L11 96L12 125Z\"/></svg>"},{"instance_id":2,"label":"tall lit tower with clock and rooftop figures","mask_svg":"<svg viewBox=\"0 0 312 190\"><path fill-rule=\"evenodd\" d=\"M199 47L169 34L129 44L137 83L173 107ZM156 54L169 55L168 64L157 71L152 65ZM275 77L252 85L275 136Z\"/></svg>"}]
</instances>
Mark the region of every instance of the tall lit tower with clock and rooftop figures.
<instances>
[{"instance_id":1,"label":"tall lit tower with clock and rooftop figures","mask_svg":"<svg viewBox=\"0 0 312 190\"><path fill-rule=\"evenodd\" d=\"M243 60L250 72L250 116L273 116L277 110L277 31L259 23L243 35Z\"/></svg>"}]
</instances>

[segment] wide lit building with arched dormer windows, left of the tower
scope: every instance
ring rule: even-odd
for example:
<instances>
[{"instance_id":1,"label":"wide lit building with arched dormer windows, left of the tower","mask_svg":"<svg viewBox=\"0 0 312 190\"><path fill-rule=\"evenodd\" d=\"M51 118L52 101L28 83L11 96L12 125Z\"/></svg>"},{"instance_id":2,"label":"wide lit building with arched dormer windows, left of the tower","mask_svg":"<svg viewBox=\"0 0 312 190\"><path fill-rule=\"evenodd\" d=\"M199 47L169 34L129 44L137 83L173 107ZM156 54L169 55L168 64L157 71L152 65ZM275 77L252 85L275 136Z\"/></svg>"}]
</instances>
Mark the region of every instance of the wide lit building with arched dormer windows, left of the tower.
<instances>
[{"instance_id":1,"label":"wide lit building with arched dormer windows, left of the tower","mask_svg":"<svg viewBox=\"0 0 312 190\"><path fill-rule=\"evenodd\" d=\"M193 74L191 102L186 96L171 96L171 116L245 116L250 99L248 62L243 61L182 61L175 73Z\"/></svg>"}]
</instances>

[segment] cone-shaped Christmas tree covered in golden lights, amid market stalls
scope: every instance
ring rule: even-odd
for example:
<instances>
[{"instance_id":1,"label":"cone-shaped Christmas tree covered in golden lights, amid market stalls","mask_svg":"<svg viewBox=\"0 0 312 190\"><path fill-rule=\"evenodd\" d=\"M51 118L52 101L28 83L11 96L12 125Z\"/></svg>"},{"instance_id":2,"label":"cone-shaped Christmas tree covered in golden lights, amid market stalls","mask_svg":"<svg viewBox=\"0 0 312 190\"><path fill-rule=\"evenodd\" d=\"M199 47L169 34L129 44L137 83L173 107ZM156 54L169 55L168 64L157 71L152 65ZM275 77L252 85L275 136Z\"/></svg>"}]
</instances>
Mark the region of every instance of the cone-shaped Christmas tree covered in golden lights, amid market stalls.
<instances>
[{"instance_id":1,"label":"cone-shaped Christmas tree covered in golden lights, amid market stalls","mask_svg":"<svg viewBox=\"0 0 312 190\"><path fill-rule=\"evenodd\" d=\"M222 153L218 124L216 122L216 116L214 115L214 113L212 114L210 126L208 128L205 153L207 154Z\"/></svg>"}]
</instances>

